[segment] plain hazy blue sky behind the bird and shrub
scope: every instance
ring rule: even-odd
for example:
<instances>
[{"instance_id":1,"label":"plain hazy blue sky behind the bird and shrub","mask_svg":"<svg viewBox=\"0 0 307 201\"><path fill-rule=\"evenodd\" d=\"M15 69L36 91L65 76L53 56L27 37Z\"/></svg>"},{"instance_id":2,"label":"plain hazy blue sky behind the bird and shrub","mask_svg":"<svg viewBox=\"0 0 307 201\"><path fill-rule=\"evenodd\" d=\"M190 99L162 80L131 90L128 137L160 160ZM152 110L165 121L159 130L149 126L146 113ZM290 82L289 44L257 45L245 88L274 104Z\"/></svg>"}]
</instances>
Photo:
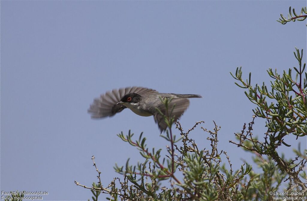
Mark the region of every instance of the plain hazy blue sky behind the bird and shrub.
<instances>
[{"instance_id":1,"label":"plain hazy blue sky behind the bird and shrub","mask_svg":"<svg viewBox=\"0 0 307 201\"><path fill-rule=\"evenodd\" d=\"M254 105L229 71L242 66L252 84L297 66L294 47L304 48L306 21L281 25L280 13L305 1L1 1L1 191L47 191L44 200L87 200L97 181L104 185L115 163L143 161L116 134L144 131L149 147L168 143L152 117L124 110L92 120L87 108L111 89L144 86L165 93L194 93L181 117L222 128L219 149L238 169L251 154L229 140L252 120ZM265 132L257 118L254 134ZM208 146L200 127L191 135ZM298 141L278 150L293 157ZM306 147L306 138L301 139ZM284 146L283 146L284 147ZM226 161L225 161L226 162Z\"/></svg>"}]
</instances>

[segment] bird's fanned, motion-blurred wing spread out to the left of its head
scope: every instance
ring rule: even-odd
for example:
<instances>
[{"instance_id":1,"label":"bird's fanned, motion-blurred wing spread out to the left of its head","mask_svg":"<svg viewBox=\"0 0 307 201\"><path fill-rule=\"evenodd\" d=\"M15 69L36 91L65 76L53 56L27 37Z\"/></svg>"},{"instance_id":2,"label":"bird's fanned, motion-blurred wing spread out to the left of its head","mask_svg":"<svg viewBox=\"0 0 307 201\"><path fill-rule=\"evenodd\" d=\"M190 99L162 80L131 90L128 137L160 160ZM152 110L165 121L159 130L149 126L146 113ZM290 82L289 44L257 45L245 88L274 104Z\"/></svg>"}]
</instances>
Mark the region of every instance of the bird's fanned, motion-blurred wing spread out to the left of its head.
<instances>
[{"instance_id":1,"label":"bird's fanned, motion-blurred wing spread out to the left of its head","mask_svg":"<svg viewBox=\"0 0 307 201\"><path fill-rule=\"evenodd\" d=\"M91 114L92 118L113 116L126 108L124 105L117 105L116 103L118 103L120 99L128 93L137 93L142 96L149 93L157 93L157 91L154 89L136 86L113 89L112 91L108 91L107 93L100 95L99 98L95 98L87 112Z\"/></svg>"}]
</instances>

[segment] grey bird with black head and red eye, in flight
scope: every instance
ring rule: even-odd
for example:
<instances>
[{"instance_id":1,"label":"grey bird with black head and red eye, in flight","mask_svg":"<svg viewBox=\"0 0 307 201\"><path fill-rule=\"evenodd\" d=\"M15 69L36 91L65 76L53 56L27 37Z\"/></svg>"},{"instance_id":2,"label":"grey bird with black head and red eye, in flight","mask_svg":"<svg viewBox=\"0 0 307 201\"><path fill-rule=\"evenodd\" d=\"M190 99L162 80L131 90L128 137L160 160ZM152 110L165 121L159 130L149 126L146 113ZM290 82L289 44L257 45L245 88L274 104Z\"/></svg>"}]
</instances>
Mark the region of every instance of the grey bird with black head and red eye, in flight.
<instances>
[{"instance_id":1,"label":"grey bird with black head and red eye, in flight","mask_svg":"<svg viewBox=\"0 0 307 201\"><path fill-rule=\"evenodd\" d=\"M185 112L189 106L188 98L201 98L196 94L176 94L176 93L159 93L154 89L144 87L126 87L121 89L113 89L112 91L102 94L99 98L95 98L90 108L87 110L94 119L113 116L121 112L125 108L129 108L140 116L153 116L158 124L160 131L165 131L167 124L163 116L156 110L158 108L163 114L166 114L165 105L161 98L171 98L168 106L168 112L174 117L174 121Z\"/></svg>"}]
</instances>

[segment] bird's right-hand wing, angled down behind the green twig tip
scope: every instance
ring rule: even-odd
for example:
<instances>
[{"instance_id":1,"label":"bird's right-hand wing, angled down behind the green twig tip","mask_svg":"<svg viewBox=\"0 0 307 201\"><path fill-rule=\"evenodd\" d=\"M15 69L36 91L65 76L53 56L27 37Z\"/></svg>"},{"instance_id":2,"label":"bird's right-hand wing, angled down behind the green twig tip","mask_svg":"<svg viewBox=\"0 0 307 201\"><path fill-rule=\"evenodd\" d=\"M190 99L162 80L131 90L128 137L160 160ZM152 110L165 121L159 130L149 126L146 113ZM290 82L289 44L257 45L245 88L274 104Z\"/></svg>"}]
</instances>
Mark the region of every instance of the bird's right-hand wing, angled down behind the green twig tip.
<instances>
[{"instance_id":1,"label":"bird's right-hand wing, angled down behind the green twig tip","mask_svg":"<svg viewBox=\"0 0 307 201\"><path fill-rule=\"evenodd\" d=\"M187 98L176 98L170 101L168 105L168 114L169 117L174 117L174 121L176 122L177 119L185 112L188 108L190 102ZM174 109L173 106L175 105ZM167 115L165 105L163 103L159 104L157 108L165 115ZM173 111L172 111L173 109ZM163 118L163 116L159 112L154 112L154 120L158 124L160 131L163 132L167 129L167 124Z\"/></svg>"}]
</instances>

